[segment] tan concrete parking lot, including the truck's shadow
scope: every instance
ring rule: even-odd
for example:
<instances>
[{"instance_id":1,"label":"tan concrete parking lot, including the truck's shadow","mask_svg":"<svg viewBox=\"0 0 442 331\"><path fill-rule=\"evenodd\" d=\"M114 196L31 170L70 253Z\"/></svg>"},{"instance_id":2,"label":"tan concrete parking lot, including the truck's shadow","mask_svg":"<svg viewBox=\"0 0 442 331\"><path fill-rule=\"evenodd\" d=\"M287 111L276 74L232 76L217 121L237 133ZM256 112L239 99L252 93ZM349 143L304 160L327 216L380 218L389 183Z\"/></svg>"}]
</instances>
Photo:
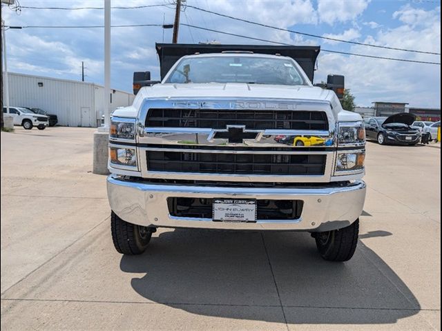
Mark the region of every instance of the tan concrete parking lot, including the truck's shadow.
<instances>
[{"instance_id":1,"label":"tan concrete parking lot, including the truck's shadow","mask_svg":"<svg viewBox=\"0 0 442 331\"><path fill-rule=\"evenodd\" d=\"M161 229L113 248L92 128L1 132L2 330L440 330L441 150L367 143L347 263L308 233Z\"/></svg>"}]
</instances>

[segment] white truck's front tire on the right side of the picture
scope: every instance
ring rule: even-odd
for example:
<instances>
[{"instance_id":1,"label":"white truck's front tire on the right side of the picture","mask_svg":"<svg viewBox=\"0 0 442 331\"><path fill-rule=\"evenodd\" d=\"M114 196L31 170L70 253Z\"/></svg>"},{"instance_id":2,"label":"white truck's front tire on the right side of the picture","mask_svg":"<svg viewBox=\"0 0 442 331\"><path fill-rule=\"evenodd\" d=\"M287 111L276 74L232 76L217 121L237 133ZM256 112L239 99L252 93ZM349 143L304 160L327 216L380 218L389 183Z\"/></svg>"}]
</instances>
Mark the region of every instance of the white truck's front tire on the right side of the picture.
<instances>
[{"instance_id":1,"label":"white truck's front tire on the right side of the picture","mask_svg":"<svg viewBox=\"0 0 442 331\"><path fill-rule=\"evenodd\" d=\"M315 234L316 247L327 261L344 262L352 259L358 244L359 219L339 230Z\"/></svg>"}]
</instances>

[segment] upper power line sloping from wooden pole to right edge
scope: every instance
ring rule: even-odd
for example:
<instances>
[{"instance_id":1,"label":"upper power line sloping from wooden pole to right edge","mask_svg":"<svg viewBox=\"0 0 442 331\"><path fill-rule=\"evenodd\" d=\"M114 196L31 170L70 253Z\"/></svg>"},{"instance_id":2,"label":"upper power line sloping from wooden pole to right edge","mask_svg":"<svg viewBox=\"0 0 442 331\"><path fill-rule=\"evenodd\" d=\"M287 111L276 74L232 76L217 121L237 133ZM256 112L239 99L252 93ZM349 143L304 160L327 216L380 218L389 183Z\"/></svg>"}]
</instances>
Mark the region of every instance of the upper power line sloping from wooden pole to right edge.
<instances>
[{"instance_id":1,"label":"upper power line sloping from wooden pole to right edge","mask_svg":"<svg viewBox=\"0 0 442 331\"><path fill-rule=\"evenodd\" d=\"M296 31L296 30L289 30L289 29L285 29L285 28L278 28L277 26L269 26L267 24L253 22L253 21L249 21L247 19L240 19L238 17L233 17L233 16L230 16L230 15L227 15L227 14L220 14L219 12L213 12L211 10L206 10L206 9L195 7L195 6L191 6L191 5L187 5L187 7L193 8L193 9L196 9L196 10L200 10L202 12L207 12L207 13L210 13L210 14L215 14L215 15L218 15L220 17L226 17L228 19L234 19L236 21L242 21L244 23L254 24L256 26L262 26L262 27L271 28L271 29L274 29L274 30L280 30L280 31L291 32L291 33L296 33L296 34L302 34L303 36L307 36L307 37L327 39L327 40L331 40L331 41L338 41L340 43L352 43L354 45L359 45L359 46L369 46L369 47L375 47L375 48L385 48L387 50L401 50L403 52L415 52L415 53L422 53L422 54L441 55L441 53L437 53L437 52L425 52L423 50L409 50L409 49L405 49L405 48L395 48L395 47L389 47L389 46L372 45L371 43L359 43L358 41L349 41L349 40L332 38L332 37L324 37L324 36L319 36L317 34L300 32L300 31Z\"/></svg>"}]
</instances>

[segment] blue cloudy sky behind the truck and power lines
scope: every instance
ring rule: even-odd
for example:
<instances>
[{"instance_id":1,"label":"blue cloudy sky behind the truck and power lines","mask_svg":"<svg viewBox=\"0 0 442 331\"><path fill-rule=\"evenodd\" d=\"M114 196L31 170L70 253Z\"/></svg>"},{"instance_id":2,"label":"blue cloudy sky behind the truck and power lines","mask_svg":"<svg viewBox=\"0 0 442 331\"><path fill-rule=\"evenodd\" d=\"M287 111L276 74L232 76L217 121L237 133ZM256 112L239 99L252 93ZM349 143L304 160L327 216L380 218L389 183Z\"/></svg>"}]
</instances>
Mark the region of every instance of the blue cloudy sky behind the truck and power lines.
<instances>
[{"instance_id":1,"label":"blue cloudy sky behind the truck and power lines","mask_svg":"<svg viewBox=\"0 0 442 331\"><path fill-rule=\"evenodd\" d=\"M16 0L17 1L17 0ZM173 0L112 0L112 25L173 23ZM315 83L327 74L345 75L345 86L357 106L373 101L406 102L413 107L441 107L441 66L325 52L334 50L378 57L441 62L437 54L420 54L307 37L251 25L195 10L190 6L241 19L322 37L369 45L441 52L441 1L430 0L186 0L181 23L297 46L320 46ZM103 7L103 0L19 0L21 11L2 7L7 26L103 26L104 10L37 10L31 7ZM24 74L103 84L103 28L23 28L6 31L8 70ZM134 71L160 76L155 42L171 42L162 27L112 28L111 86L131 91ZM178 42L265 44L217 32L180 26ZM273 44L274 45L274 44Z\"/></svg>"}]
</instances>

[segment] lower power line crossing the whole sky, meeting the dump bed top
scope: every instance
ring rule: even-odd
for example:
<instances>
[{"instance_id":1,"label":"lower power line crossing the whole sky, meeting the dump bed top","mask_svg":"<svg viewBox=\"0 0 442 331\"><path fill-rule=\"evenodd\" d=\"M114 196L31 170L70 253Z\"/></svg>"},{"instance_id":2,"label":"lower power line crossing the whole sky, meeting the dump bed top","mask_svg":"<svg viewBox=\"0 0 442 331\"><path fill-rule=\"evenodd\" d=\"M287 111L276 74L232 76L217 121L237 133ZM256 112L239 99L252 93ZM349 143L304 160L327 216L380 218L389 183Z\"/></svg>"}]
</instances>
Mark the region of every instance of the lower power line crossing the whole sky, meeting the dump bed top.
<instances>
[{"instance_id":1,"label":"lower power line crossing the whole sky, meeting the dump bed top","mask_svg":"<svg viewBox=\"0 0 442 331\"><path fill-rule=\"evenodd\" d=\"M186 23L180 23L180 25L188 26L190 28L195 28L195 29L199 29L199 30L206 30L206 31L210 31L210 32L220 33L220 34L227 34L227 35L233 36L233 37L240 37L240 38L251 39L251 40L256 40L256 41L265 41L267 43L276 43L278 45L295 46L295 45L293 45L291 43L281 43L279 41L272 41L272 40L268 40L268 39L249 37L249 36L244 36L242 34L235 34L235 33L231 33L231 32L224 32L224 31L213 30L213 29L209 29L209 28L202 28L200 26L193 26L191 24L186 24ZM135 28L135 27L143 27L143 26L164 27L163 24L128 24L128 25L112 26L112 28ZM11 29L26 29L26 28L104 28L104 26L6 26L6 27L11 28ZM340 52L338 50L326 50L326 49L323 49L323 48L321 50L323 52L336 53L336 54L344 54L344 55L354 55L356 57L367 57L367 58L371 58L371 59L383 59L383 60L412 62L412 63L435 64L437 66L441 65L441 63L439 63L439 62L419 61L419 60L410 60L410 59L398 59L398 58L395 58L395 57L379 57L379 56L368 55L368 54L358 54L358 53L351 53L351 52Z\"/></svg>"}]
</instances>

